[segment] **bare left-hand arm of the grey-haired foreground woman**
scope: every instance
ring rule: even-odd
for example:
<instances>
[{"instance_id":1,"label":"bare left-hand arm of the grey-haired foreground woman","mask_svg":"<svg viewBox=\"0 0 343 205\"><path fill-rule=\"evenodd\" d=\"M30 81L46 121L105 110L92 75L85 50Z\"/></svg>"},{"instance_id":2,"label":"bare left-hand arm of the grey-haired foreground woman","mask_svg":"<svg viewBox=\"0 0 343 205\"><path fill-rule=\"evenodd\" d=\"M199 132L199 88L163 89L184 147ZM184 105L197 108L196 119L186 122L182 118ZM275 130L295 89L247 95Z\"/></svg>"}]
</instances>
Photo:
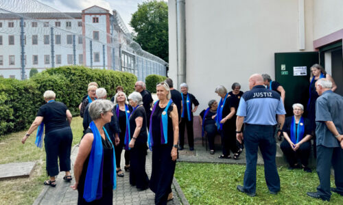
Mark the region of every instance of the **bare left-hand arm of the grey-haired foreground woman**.
<instances>
[{"instance_id":1,"label":"bare left-hand arm of the grey-haired foreground woman","mask_svg":"<svg viewBox=\"0 0 343 205\"><path fill-rule=\"evenodd\" d=\"M89 153L91 153L93 139L94 139L93 133L87 133L81 139L79 150L78 150L78 156L76 156L76 160L74 163L75 184L71 186L71 188L74 190L78 189L78 184L80 182L79 180L82 173L82 168L84 166L84 161L86 161Z\"/></svg>"}]
</instances>

